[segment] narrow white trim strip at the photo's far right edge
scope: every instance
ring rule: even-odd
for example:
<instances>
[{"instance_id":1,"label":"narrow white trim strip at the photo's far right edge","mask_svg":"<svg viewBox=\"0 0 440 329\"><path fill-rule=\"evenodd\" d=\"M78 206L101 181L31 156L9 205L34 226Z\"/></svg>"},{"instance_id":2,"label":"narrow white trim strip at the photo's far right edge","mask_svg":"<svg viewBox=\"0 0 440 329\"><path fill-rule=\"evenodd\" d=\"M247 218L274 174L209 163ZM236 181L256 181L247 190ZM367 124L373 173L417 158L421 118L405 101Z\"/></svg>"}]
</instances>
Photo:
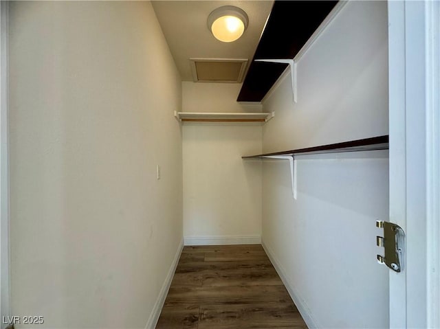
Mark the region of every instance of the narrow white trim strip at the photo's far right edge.
<instances>
[{"instance_id":1,"label":"narrow white trim strip at the photo's far right edge","mask_svg":"<svg viewBox=\"0 0 440 329\"><path fill-rule=\"evenodd\" d=\"M426 3L427 325L440 328L440 1Z\"/></svg>"}]
</instances>

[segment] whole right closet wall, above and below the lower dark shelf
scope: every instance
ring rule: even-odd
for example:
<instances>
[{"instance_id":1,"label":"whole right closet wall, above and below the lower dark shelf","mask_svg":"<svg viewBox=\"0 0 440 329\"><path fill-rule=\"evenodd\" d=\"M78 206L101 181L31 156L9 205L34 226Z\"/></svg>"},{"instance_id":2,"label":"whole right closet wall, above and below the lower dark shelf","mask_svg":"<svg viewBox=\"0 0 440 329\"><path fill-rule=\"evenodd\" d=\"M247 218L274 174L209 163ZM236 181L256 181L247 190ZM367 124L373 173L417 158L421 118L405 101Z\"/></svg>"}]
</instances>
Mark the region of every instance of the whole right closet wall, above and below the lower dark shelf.
<instances>
[{"instance_id":1,"label":"whole right closet wall, above and below the lower dark shelf","mask_svg":"<svg viewBox=\"0 0 440 329\"><path fill-rule=\"evenodd\" d=\"M353 1L263 104L263 150L388 133L386 2ZM388 269L377 264L375 220L388 218L388 153L263 163L263 244L309 327L388 328Z\"/></svg>"}]
</instances>

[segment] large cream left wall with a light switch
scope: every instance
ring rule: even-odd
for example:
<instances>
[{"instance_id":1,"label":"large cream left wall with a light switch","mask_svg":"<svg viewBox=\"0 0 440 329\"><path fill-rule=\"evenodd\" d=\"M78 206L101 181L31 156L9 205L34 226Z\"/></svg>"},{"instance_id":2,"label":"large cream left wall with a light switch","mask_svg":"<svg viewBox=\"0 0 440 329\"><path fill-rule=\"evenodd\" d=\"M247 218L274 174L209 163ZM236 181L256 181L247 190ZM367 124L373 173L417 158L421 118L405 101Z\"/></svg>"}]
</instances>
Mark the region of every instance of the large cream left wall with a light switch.
<instances>
[{"instance_id":1,"label":"large cream left wall with a light switch","mask_svg":"<svg viewBox=\"0 0 440 329\"><path fill-rule=\"evenodd\" d=\"M13 2L9 42L12 314L145 328L182 238L181 82L151 3Z\"/></svg>"}]
</instances>

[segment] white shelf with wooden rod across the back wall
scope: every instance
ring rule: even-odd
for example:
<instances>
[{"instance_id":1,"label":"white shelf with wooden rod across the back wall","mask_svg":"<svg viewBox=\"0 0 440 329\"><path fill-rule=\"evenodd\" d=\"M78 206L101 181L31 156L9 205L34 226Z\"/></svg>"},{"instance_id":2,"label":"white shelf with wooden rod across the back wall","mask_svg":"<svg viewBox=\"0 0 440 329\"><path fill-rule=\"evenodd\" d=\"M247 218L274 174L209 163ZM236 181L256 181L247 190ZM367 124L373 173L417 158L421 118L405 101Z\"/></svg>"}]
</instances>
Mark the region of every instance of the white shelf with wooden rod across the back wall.
<instances>
[{"instance_id":1,"label":"white shelf with wooden rod across the back wall","mask_svg":"<svg viewBox=\"0 0 440 329\"><path fill-rule=\"evenodd\" d=\"M275 113L199 113L176 112L174 116L179 122L261 122L265 123Z\"/></svg>"}]
</instances>

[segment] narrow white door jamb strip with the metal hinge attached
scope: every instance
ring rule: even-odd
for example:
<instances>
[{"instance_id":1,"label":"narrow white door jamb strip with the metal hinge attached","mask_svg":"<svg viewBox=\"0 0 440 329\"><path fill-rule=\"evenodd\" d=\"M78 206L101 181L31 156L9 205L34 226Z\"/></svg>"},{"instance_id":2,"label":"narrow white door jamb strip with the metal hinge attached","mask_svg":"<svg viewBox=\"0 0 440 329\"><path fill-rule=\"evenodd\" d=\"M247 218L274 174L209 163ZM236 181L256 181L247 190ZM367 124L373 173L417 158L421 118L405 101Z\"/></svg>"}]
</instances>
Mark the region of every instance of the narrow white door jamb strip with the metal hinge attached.
<instances>
[{"instance_id":1,"label":"narrow white door jamb strip with the metal hinge attached","mask_svg":"<svg viewBox=\"0 0 440 329\"><path fill-rule=\"evenodd\" d=\"M388 1L390 221L406 231L405 5ZM406 328L406 270L390 271L390 328Z\"/></svg>"}]
</instances>

